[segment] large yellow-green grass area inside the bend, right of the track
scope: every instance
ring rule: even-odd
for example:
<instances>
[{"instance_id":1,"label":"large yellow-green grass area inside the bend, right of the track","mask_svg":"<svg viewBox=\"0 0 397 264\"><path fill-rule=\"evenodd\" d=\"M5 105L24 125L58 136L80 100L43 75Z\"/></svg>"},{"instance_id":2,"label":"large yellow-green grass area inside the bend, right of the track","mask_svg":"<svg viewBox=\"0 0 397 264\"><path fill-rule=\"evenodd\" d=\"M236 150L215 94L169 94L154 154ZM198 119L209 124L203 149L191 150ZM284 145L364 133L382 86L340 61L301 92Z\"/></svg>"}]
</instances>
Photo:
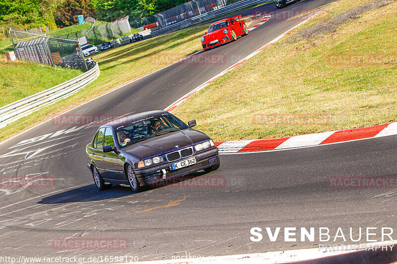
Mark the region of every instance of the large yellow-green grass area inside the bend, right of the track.
<instances>
[{"instance_id":1,"label":"large yellow-green grass area inside the bend, right of the track","mask_svg":"<svg viewBox=\"0 0 397 264\"><path fill-rule=\"evenodd\" d=\"M214 140L244 140L397 121L397 2L335 32L296 32L368 0L338 1L177 107Z\"/></svg>"}]
</instances>

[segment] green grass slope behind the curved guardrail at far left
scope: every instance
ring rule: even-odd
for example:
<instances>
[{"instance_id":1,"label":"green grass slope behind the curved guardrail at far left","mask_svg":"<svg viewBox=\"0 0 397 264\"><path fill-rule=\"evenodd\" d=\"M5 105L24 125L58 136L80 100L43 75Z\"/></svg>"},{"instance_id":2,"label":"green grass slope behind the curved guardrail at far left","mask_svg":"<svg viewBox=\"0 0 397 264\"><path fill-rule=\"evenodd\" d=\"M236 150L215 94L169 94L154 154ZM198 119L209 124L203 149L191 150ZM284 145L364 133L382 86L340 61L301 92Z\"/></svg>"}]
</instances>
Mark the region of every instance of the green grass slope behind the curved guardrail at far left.
<instances>
[{"instance_id":1,"label":"green grass slope behind the curved guardrail at far left","mask_svg":"<svg viewBox=\"0 0 397 264\"><path fill-rule=\"evenodd\" d=\"M1 60L0 107L61 84L81 73L79 70L54 69L29 61Z\"/></svg>"}]
</instances>

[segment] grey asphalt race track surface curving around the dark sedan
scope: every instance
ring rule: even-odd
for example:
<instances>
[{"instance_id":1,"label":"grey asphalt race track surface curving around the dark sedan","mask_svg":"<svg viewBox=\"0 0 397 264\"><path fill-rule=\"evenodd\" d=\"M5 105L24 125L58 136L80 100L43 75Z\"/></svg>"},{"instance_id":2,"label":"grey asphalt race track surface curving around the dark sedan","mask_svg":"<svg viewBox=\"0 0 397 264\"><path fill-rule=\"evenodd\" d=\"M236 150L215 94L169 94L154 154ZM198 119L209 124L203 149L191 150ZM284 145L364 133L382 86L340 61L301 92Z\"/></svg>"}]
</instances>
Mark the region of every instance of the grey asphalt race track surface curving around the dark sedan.
<instances>
[{"instance_id":1,"label":"grey asphalt race track surface curving around the dark sedan","mask_svg":"<svg viewBox=\"0 0 397 264\"><path fill-rule=\"evenodd\" d=\"M301 0L283 9L273 3L247 10L273 17L236 42L195 56L220 55L222 63L176 63L64 116L122 116L164 109L223 69L262 47L330 0ZM293 12L291 12L293 11ZM275 15L276 14L276 15ZM304 17L304 18L307 18ZM199 39L197 40L199 42ZM289 73L285 73L286 78ZM62 118L62 116L61 116ZM330 177L396 177L397 136L313 148L222 155L221 167L178 184L134 194L128 187L97 191L86 167L85 145L98 125L53 119L0 145L0 177L52 179L46 186L11 184L0 189L0 251L16 257L131 256L139 261L176 256L220 256L316 248L314 242L284 242L284 227L397 228L396 189L335 189ZM189 120L184 120L189 121ZM215 179L210 188L197 185ZM270 242L250 240L252 227L281 227ZM365 233L364 233L365 234ZM393 235L392 235L393 236ZM394 234L397 238L397 234ZM393 238L395 238L393 237ZM118 239L117 249L63 248L61 238ZM395 238L395 239L396 239ZM365 235L360 242L365 242ZM324 244L352 244L337 239ZM357 242L358 243L358 242ZM130 259L129 259L130 260Z\"/></svg>"}]
</instances>

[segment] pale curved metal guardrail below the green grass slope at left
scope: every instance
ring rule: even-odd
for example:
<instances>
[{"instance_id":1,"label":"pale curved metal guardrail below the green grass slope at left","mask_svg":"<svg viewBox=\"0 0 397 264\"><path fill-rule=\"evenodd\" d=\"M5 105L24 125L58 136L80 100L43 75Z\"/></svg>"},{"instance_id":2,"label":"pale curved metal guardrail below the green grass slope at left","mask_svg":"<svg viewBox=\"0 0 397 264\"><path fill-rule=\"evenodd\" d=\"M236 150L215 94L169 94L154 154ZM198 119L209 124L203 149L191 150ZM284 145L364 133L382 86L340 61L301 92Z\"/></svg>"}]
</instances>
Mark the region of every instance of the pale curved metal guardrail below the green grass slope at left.
<instances>
[{"instance_id":1,"label":"pale curved metal guardrail below the green grass slope at left","mask_svg":"<svg viewBox=\"0 0 397 264\"><path fill-rule=\"evenodd\" d=\"M40 93L0 107L0 128L26 116L43 106L69 97L99 76L98 63L83 74Z\"/></svg>"}]
</instances>

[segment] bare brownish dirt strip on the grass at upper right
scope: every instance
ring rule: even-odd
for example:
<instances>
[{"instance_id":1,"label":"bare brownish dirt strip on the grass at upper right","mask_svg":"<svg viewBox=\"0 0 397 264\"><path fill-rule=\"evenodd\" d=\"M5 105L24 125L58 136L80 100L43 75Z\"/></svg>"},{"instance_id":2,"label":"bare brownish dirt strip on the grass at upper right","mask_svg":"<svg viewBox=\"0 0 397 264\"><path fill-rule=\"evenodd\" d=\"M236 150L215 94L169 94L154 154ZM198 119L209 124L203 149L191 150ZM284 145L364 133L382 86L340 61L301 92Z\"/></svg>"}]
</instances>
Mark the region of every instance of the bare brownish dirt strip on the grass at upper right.
<instances>
[{"instance_id":1,"label":"bare brownish dirt strip on the grass at upper right","mask_svg":"<svg viewBox=\"0 0 397 264\"><path fill-rule=\"evenodd\" d=\"M335 17L327 19L326 21L314 24L298 33L296 33L291 41L298 39L311 39L313 37L334 32L336 28L349 20L355 20L360 17L361 14L371 11L372 9L383 7L388 5L395 0L374 0L367 4L363 4L354 8L351 8Z\"/></svg>"}]
</instances>

